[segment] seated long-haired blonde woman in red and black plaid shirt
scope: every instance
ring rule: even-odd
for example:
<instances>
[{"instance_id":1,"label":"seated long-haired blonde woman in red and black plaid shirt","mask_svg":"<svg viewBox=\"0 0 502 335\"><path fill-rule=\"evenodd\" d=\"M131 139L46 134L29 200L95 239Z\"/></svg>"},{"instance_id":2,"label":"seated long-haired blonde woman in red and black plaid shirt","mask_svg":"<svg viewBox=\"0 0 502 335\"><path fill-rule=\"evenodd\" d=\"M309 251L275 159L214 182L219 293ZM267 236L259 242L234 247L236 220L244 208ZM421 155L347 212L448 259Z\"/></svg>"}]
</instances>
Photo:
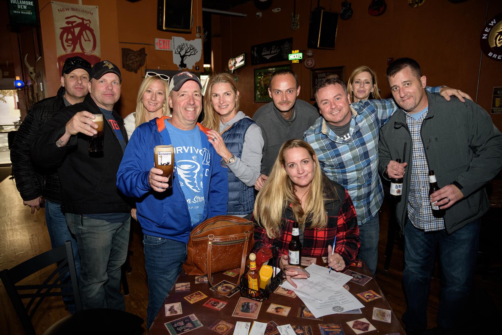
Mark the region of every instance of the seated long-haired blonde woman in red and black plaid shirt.
<instances>
[{"instance_id":1,"label":"seated long-haired blonde woman in red and black plaid shirt","mask_svg":"<svg viewBox=\"0 0 502 335\"><path fill-rule=\"evenodd\" d=\"M321 172L314 149L301 139L286 141L265 186L255 202L255 250L279 242L281 268L288 264L293 223L298 223L301 256L327 256L335 271L350 266L359 249L359 229L354 205L341 185ZM335 250L332 245L336 237ZM285 270L286 279L306 275Z\"/></svg>"}]
</instances>

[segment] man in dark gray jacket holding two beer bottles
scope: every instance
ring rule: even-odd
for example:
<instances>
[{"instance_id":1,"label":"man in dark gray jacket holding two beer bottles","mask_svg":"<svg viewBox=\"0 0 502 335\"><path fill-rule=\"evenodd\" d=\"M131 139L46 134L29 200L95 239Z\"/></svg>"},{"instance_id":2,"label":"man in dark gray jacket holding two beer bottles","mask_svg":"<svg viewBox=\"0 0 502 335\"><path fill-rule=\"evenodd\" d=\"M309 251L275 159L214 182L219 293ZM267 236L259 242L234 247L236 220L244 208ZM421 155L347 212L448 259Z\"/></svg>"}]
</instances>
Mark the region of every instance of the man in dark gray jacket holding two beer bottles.
<instances>
[{"instance_id":1,"label":"man in dark gray jacket holding two beer bottles","mask_svg":"<svg viewBox=\"0 0 502 335\"><path fill-rule=\"evenodd\" d=\"M387 79L401 109L381 128L379 170L384 178L403 178L396 206L405 236L408 307L403 322L408 334L427 327L430 276L439 245L437 333L443 333L463 324L458 318L472 287L480 218L489 207L484 185L502 167L502 134L472 101L446 102L426 92L426 78L413 59L392 63ZM440 190L429 196L430 170ZM444 216L433 214L431 204L444 209Z\"/></svg>"}]
</instances>

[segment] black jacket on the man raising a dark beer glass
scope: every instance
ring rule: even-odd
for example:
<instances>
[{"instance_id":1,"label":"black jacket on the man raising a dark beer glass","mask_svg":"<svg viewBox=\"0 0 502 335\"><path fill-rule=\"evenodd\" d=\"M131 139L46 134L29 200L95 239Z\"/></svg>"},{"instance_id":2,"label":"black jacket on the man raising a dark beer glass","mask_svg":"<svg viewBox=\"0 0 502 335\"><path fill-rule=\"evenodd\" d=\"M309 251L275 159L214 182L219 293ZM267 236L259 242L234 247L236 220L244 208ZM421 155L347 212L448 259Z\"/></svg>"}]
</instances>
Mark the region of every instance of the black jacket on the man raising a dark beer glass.
<instances>
[{"instance_id":1,"label":"black jacket on the man raising a dark beer glass","mask_svg":"<svg viewBox=\"0 0 502 335\"><path fill-rule=\"evenodd\" d=\"M127 213L130 208L126 198L116 187L116 173L123 155L122 147L108 122L103 122L103 157L89 157L88 136L82 133L72 135L67 145L56 146L56 141L65 133L66 123L75 113L83 110L93 114L101 113L90 94L83 102L61 109L52 116L42 133L32 142L32 158L43 168L58 168L64 213ZM113 116L127 143L123 119L115 111Z\"/></svg>"}]
</instances>

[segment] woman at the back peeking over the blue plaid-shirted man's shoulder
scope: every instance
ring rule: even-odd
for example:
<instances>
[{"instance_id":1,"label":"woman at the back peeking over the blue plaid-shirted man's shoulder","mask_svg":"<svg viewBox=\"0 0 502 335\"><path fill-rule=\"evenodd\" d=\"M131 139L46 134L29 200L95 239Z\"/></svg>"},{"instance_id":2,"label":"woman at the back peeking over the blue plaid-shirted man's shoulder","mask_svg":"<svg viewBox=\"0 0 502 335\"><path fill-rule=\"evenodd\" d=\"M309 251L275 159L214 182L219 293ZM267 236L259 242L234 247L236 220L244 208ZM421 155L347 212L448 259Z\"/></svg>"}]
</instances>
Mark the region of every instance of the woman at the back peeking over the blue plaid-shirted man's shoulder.
<instances>
[{"instance_id":1,"label":"woman at the back peeking over the blue plaid-shirted man's shoulder","mask_svg":"<svg viewBox=\"0 0 502 335\"><path fill-rule=\"evenodd\" d=\"M350 74L347 81L350 102L367 99L382 99L378 89L376 73L367 66L359 66Z\"/></svg>"}]
</instances>

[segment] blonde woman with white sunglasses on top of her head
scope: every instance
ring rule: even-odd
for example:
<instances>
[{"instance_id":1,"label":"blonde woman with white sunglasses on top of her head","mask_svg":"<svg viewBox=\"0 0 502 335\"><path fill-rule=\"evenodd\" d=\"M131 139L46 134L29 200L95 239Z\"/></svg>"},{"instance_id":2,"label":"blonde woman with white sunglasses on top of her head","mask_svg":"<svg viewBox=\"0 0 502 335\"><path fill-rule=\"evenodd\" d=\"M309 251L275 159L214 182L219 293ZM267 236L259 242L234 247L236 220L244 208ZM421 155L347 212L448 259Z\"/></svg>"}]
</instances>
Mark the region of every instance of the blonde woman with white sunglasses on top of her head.
<instances>
[{"instance_id":1,"label":"blonde woman with white sunglasses on top of her head","mask_svg":"<svg viewBox=\"0 0 502 335\"><path fill-rule=\"evenodd\" d=\"M134 129L140 124L163 115L171 115L167 96L169 95L169 77L165 74L147 72L141 83L136 99L136 111L124 118L124 127L131 138Z\"/></svg>"}]
</instances>

